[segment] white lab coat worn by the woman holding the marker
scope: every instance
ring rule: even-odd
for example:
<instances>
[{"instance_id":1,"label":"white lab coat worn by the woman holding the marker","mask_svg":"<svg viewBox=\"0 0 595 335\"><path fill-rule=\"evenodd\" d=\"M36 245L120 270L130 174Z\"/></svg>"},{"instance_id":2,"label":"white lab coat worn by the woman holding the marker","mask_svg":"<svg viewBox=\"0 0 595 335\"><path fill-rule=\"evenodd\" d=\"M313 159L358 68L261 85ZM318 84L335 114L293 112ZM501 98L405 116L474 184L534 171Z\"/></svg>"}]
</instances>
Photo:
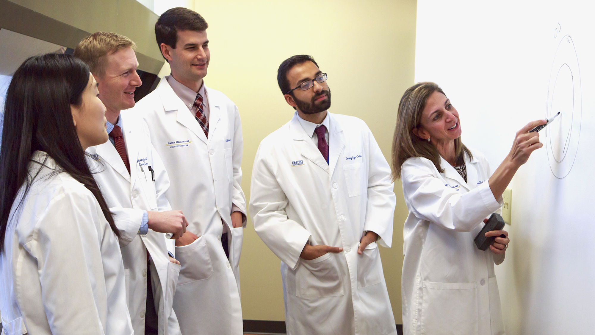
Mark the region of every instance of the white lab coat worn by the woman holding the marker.
<instances>
[{"instance_id":1,"label":"white lab coat worn by the woman holding the marker","mask_svg":"<svg viewBox=\"0 0 595 335\"><path fill-rule=\"evenodd\" d=\"M401 181L409 209L403 237L402 311L404 334L504 334L500 296L490 249L475 246L483 219L498 212L488 185L486 158L465 157L467 182L441 159L403 163ZM466 155L465 155L466 156Z\"/></svg>"}]
</instances>

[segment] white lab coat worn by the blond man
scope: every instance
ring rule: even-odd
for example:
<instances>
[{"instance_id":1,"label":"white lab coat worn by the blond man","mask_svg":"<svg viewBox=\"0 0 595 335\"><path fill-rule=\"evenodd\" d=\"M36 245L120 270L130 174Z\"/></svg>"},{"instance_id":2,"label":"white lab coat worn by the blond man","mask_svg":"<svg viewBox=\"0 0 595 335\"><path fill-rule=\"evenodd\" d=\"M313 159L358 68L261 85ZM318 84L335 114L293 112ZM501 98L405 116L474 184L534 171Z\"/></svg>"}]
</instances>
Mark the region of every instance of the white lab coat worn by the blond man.
<instances>
[{"instance_id":1,"label":"white lab coat worn by the blond man","mask_svg":"<svg viewBox=\"0 0 595 335\"><path fill-rule=\"evenodd\" d=\"M170 262L165 234L149 229L146 235L137 235L143 210L161 212L170 210L165 191L170 181L159 154L151 145L145 121L123 111L123 136L130 163L130 174L114 145L104 144L87 148L89 166L120 231L120 247L126 272L126 297L134 333L145 333L147 289L146 252L151 255L155 311L158 315L159 335L179 334L173 298L180 265ZM149 166L154 170L152 179ZM173 240L168 240L173 250ZM156 270L156 272L155 272Z\"/></svg>"}]
</instances>

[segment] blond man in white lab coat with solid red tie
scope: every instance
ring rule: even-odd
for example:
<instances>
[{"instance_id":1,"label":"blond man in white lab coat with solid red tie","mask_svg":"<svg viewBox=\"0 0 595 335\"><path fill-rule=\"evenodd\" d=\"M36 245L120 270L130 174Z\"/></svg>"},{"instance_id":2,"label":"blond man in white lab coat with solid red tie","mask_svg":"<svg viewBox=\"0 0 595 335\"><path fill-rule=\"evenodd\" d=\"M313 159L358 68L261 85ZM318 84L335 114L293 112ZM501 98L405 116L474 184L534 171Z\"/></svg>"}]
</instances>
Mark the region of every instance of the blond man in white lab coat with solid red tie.
<instances>
[{"instance_id":1,"label":"blond man in white lab coat with solid red tie","mask_svg":"<svg viewBox=\"0 0 595 335\"><path fill-rule=\"evenodd\" d=\"M173 312L180 265L173 240L187 222L165 198L170 181L151 145L142 119L121 110L134 106L142 85L136 73L134 42L115 33L97 32L83 39L74 55L89 64L107 111L109 141L89 147L89 166L120 231L126 297L135 334L179 334ZM171 253L168 255L168 244Z\"/></svg>"}]
</instances>

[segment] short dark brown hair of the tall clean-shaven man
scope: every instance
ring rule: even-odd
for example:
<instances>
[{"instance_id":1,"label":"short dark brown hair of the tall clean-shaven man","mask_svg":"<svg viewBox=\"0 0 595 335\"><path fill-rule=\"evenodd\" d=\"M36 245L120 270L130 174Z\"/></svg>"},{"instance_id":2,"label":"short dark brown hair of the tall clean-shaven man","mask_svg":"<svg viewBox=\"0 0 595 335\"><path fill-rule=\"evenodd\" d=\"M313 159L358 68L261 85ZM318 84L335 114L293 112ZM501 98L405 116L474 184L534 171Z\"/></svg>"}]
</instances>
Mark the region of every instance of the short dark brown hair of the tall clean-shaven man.
<instances>
[{"instance_id":1,"label":"short dark brown hair of the tall clean-shaven man","mask_svg":"<svg viewBox=\"0 0 595 335\"><path fill-rule=\"evenodd\" d=\"M178 42L179 30L190 30L192 32L202 32L209 27L201 14L184 7L171 8L159 16L155 23L155 39L159 52L161 44L176 48ZM165 57L164 57L165 58Z\"/></svg>"}]
</instances>

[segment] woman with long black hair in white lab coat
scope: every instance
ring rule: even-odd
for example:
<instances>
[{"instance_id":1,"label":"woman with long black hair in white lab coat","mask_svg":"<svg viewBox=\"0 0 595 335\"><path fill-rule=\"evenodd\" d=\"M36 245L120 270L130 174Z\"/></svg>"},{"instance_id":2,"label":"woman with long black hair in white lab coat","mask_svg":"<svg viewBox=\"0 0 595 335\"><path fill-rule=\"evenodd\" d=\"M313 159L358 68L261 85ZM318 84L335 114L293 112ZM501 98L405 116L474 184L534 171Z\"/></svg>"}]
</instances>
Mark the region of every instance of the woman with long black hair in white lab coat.
<instances>
[{"instance_id":1,"label":"woman with long black hair in white lab coat","mask_svg":"<svg viewBox=\"0 0 595 335\"><path fill-rule=\"evenodd\" d=\"M118 231L84 150L108 140L83 61L24 61L0 148L0 312L8 334L122 334L132 327Z\"/></svg>"}]
</instances>

